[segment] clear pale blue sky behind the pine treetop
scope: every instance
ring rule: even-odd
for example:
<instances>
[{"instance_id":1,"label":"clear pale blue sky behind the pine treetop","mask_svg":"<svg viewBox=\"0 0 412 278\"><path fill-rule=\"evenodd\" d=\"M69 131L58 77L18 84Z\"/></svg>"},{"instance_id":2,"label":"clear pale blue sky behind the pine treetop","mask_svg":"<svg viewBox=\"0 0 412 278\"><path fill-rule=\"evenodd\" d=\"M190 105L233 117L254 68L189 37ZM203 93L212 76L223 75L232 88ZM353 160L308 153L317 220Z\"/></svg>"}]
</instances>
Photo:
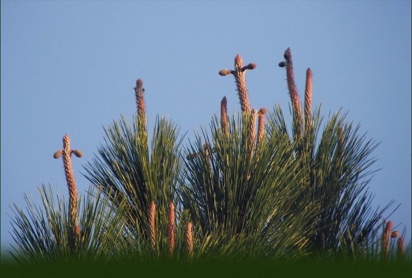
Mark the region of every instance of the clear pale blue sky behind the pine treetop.
<instances>
[{"instance_id":1,"label":"clear pale blue sky behind the pine treetop","mask_svg":"<svg viewBox=\"0 0 412 278\"><path fill-rule=\"evenodd\" d=\"M252 107L280 104L289 118L285 70L296 85L313 72L313 105L343 107L361 133L381 142L370 190L373 207L401 204L390 217L411 234L411 2L1 2L1 248L9 249L9 205L50 183L67 196L61 160L67 133L83 158L103 143L102 126L131 118L142 78L149 129L157 113L186 138L208 126L223 95L239 110L232 69L239 53Z\"/></svg>"}]
</instances>

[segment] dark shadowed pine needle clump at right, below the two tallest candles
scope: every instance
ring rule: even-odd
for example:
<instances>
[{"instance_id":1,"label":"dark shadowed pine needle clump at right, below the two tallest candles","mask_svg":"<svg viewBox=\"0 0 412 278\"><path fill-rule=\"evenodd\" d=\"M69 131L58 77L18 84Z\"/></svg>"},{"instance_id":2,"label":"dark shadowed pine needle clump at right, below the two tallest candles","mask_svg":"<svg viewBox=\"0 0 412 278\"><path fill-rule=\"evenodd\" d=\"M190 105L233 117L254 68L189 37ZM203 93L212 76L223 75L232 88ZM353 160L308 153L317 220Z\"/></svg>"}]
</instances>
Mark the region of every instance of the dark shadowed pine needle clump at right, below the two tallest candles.
<instances>
[{"instance_id":1,"label":"dark shadowed pine needle clump at right, below the two tallest candles","mask_svg":"<svg viewBox=\"0 0 412 278\"><path fill-rule=\"evenodd\" d=\"M316 222L312 249L331 254L338 248L357 249L370 241L383 213L393 203L372 211L367 186L376 161L370 155L378 144L366 140L365 134L359 135L360 126L346 123L345 116L339 112L332 115L319 134L322 118L320 109L316 109L305 135L293 141L295 157L305 162L301 167L306 172L304 187L312 195L311 202L321 207L320 213L312 216ZM269 115L268 132L288 133L279 107Z\"/></svg>"}]
</instances>

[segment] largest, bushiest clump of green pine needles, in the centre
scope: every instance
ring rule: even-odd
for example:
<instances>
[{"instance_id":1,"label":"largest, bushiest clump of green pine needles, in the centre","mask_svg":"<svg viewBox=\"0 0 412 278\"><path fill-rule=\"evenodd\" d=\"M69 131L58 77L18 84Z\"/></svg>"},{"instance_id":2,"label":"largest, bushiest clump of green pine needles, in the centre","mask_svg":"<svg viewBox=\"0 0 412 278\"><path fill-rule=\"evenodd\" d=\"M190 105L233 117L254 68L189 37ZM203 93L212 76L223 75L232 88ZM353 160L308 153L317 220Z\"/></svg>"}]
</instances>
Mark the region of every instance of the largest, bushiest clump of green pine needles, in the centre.
<instances>
[{"instance_id":1,"label":"largest, bushiest clump of green pine needles, in the centre","mask_svg":"<svg viewBox=\"0 0 412 278\"><path fill-rule=\"evenodd\" d=\"M304 173L297 171L301 161L293 157L289 138L264 137L256 148L255 141L250 143L250 114L244 113L242 121L233 118L230 134L218 122L214 118L210 125L211 140L203 131L203 138L197 136L187 151L199 154L186 161L183 207L202 236L219 235L214 244L224 252L289 258L304 254L314 229L310 216L319 207L303 195Z\"/></svg>"}]
</instances>

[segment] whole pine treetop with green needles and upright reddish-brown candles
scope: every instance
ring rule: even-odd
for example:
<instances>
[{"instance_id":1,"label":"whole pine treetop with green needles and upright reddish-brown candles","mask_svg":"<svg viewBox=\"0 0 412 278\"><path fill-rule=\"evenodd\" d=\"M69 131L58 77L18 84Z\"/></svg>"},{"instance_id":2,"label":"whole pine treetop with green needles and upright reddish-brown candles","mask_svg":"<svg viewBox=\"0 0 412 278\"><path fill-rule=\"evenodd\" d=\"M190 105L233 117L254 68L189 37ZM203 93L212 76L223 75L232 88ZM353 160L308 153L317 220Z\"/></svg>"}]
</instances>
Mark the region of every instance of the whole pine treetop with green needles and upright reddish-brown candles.
<instances>
[{"instance_id":1,"label":"whole pine treetop with green needles and upright reddish-brown candles","mask_svg":"<svg viewBox=\"0 0 412 278\"><path fill-rule=\"evenodd\" d=\"M220 117L186 146L178 126L160 116L149 142L137 80L132 122L122 116L105 128L105 143L84 166L88 192L78 197L71 156L82 153L70 149L66 134L54 158L63 158L68 201L43 185L40 206L25 195L26 210L12 207L13 260L410 263L405 232L384 219L393 202L371 208L378 144L346 113L324 120L320 107L312 109L310 69L302 108L289 48L279 67L286 69L291 128L279 106L251 108L245 74L256 64L244 66L238 54L234 69L219 74L234 76L241 111L229 116L223 97Z\"/></svg>"}]
</instances>

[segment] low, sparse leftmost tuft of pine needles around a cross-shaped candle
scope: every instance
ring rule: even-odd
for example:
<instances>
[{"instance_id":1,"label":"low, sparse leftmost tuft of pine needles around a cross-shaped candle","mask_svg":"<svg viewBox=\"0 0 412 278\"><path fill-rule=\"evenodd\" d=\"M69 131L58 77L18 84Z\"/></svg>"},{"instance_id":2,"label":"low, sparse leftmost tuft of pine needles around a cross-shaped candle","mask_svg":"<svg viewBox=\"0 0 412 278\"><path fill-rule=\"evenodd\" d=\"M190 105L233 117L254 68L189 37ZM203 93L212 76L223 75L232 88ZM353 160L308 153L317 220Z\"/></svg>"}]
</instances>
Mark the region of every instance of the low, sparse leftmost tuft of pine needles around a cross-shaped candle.
<instances>
[{"instance_id":1,"label":"low, sparse leftmost tuft of pine needles around a cross-shaped candle","mask_svg":"<svg viewBox=\"0 0 412 278\"><path fill-rule=\"evenodd\" d=\"M13 257L20 263L88 262L101 261L110 252L116 234L122 226L118 211L108 196L92 190L79 200L81 213L80 239L73 253L68 245L67 204L59 194L55 197L51 187L42 186L39 193L42 206L35 206L32 197L24 195L27 210L16 205L12 208L13 239L16 243Z\"/></svg>"}]
</instances>

